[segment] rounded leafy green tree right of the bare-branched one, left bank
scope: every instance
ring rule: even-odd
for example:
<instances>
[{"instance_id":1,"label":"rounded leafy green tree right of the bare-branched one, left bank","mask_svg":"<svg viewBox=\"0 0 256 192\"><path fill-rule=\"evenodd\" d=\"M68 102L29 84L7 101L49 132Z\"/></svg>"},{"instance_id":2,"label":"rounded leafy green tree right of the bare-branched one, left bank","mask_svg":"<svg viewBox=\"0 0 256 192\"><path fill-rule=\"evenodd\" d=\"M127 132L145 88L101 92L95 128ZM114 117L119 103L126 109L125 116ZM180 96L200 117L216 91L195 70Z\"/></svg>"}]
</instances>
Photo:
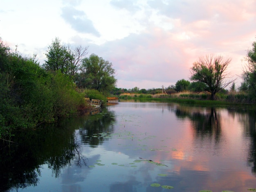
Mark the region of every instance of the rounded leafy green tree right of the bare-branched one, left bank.
<instances>
[{"instance_id":1,"label":"rounded leafy green tree right of the bare-branched one, left bank","mask_svg":"<svg viewBox=\"0 0 256 192\"><path fill-rule=\"evenodd\" d=\"M95 54L83 59L79 75L77 82L82 87L97 89L100 92L109 92L117 82L112 63Z\"/></svg>"}]
</instances>

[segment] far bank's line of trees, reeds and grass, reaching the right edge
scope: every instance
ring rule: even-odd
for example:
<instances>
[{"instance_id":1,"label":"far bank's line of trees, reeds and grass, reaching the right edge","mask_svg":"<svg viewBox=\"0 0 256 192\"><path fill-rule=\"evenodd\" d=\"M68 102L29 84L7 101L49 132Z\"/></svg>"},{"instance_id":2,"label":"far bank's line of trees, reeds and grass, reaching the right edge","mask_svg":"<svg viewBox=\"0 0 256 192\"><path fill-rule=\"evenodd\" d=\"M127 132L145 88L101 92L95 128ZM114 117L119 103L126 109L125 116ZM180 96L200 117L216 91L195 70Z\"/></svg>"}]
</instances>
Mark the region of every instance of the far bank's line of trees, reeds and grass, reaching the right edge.
<instances>
[{"instance_id":1,"label":"far bank's line of trees, reeds and grass, reaching the right edge","mask_svg":"<svg viewBox=\"0 0 256 192\"><path fill-rule=\"evenodd\" d=\"M206 55L193 63L190 80L181 79L175 85L162 87L162 89L132 89L115 88L113 95L125 93L133 94L135 97L152 97L153 94L169 95L167 98L211 99L226 100L229 102L256 103L256 42L252 43L252 49L247 51L245 57L247 64L243 66L242 74L239 74L243 82L239 87L235 85L235 79L227 80L229 73L227 67L231 58L224 58L221 55ZM228 86L229 89L225 89ZM199 94L200 93L200 94ZM148 95L150 94L150 95ZM210 94L210 96L209 96ZM125 95L127 97L128 95Z\"/></svg>"}]
</instances>

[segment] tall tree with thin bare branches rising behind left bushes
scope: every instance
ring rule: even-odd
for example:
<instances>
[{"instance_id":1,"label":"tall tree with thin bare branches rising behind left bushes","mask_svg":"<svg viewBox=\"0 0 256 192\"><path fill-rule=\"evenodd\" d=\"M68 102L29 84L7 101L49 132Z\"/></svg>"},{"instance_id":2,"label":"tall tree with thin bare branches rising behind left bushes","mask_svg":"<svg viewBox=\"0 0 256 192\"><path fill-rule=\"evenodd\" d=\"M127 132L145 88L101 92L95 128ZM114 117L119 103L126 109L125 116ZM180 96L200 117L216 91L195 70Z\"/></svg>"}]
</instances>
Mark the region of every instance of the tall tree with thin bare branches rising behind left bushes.
<instances>
[{"instance_id":1,"label":"tall tree with thin bare branches rising behind left bushes","mask_svg":"<svg viewBox=\"0 0 256 192\"><path fill-rule=\"evenodd\" d=\"M73 76L81 65L82 59L87 54L88 47L76 46L74 49L70 45L62 45L59 38L55 38L49 45L43 67L49 71L61 70L63 74Z\"/></svg>"}]
</instances>

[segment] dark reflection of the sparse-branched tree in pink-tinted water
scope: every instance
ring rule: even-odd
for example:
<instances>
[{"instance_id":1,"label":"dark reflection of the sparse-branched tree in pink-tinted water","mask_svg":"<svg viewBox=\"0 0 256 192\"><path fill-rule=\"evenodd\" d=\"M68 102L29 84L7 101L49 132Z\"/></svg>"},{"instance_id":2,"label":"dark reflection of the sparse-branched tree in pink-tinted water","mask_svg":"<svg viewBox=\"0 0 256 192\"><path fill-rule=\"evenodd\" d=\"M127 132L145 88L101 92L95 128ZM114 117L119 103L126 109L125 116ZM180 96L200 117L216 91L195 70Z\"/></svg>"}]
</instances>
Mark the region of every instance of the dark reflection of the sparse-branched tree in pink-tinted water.
<instances>
[{"instance_id":1,"label":"dark reflection of the sparse-branched tree in pink-tinted water","mask_svg":"<svg viewBox=\"0 0 256 192\"><path fill-rule=\"evenodd\" d=\"M179 118L189 118L195 130L195 138L214 137L215 143L219 143L221 134L220 114L216 112L215 107L210 109L193 108L187 106L177 107L175 114Z\"/></svg>"}]
</instances>

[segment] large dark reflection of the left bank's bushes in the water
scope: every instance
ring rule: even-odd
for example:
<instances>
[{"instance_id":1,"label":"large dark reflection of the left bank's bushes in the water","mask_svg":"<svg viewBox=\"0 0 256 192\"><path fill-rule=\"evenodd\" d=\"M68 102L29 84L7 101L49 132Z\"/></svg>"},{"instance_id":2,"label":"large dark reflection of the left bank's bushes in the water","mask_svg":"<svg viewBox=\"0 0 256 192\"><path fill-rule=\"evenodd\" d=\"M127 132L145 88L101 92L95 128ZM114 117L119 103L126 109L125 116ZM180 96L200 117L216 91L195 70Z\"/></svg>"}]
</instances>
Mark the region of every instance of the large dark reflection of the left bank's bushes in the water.
<instances>
[{"instance_id":1,"label":"large dark reflection of the left bank's bushes in the water","mask_svg":"<svg viewBox=\"0 0 256 192\"><path fill-rule=\"evenodd\" d=\"M43 164L56 178L61 170L71 165L87 166L80 140L92 147L102 144L104 138L92 136L112 132L113 121L113 115L101 114L62 120L43 129L16 132L15 143L0 148L0 191L36 186ZM81 137L76 135L78 128Z\"/></svg>"}]
</instances>

